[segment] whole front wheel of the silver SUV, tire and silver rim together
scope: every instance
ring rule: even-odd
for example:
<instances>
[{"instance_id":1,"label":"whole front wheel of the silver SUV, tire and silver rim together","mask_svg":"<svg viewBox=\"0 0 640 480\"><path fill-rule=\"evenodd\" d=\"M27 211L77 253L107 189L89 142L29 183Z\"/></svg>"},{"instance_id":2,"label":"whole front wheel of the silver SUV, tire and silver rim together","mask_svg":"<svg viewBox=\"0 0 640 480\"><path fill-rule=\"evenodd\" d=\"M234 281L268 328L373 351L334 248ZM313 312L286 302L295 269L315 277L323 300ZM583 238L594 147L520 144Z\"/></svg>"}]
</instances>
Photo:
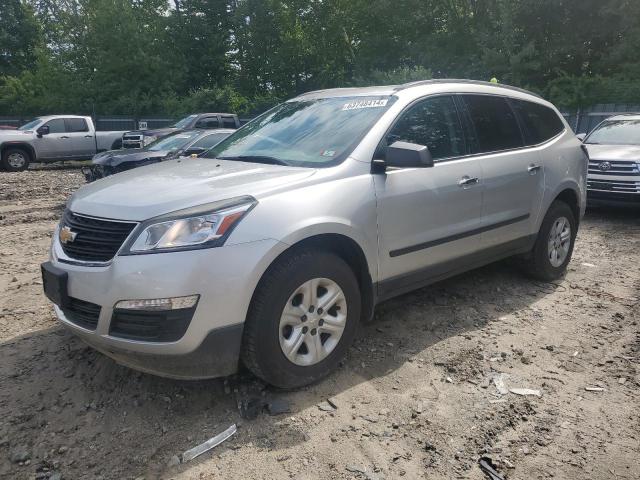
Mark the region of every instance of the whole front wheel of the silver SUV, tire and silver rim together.
<instances>
[{"instance_id":1,"label":"whole front wheel of the silver SUV, tire and silver rim together","mask_svg":"<svg viewBox=\"0 0 640 480\"><path fill-rule=\"evenodd\" d=\"M310 306L314 290L318 305ZM334 296L338 300L331 306ZM317 309L322 303L329 311ZM293 314L284 315L285 307ZM335 370L345 356L356 335L360 309L358 281L341 258L311 250L287 254L269 268L256 288L244 328L242 362L279 388L314 383ZM340 335L333 333L339 328L343 328Z\"/></svg>"}]
</instances>

